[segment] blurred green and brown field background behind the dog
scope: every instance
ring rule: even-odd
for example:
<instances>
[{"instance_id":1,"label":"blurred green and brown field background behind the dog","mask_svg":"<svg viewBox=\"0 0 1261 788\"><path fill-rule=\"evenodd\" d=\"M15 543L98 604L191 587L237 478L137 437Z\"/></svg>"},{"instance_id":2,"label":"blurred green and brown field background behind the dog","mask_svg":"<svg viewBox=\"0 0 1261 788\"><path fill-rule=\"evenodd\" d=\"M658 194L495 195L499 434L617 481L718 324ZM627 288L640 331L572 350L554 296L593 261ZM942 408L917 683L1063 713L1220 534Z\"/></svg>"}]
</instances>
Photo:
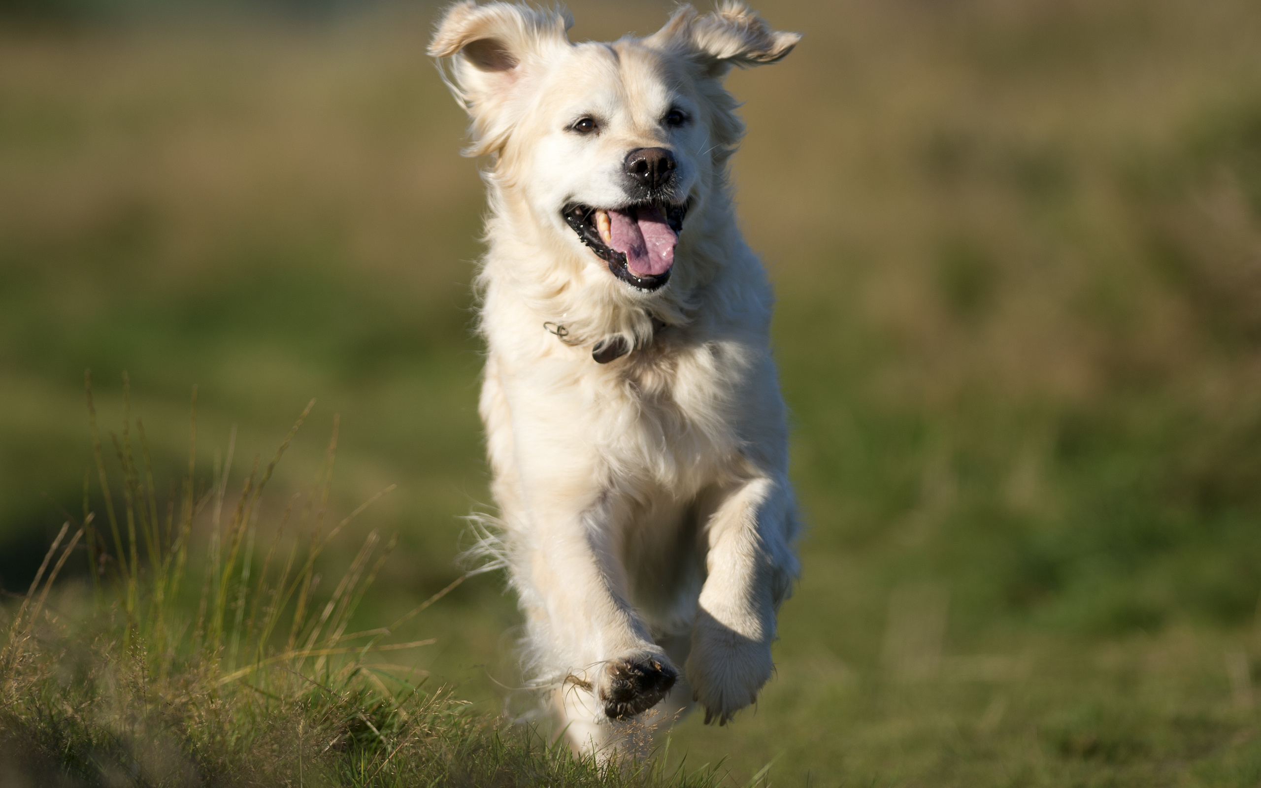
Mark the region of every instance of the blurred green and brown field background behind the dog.
<instances>
[{"instance_id":1,"label":"blurred green and brown field background behind the dog","mask_svg":"<svg viewBox=\"0 0 1261 788\"><path fill-rule=\"evenodd\" d=\"M666 3L574 3L571 38ZM778 677L671 756L743 783L1256 785L1261 6L765 0L731 74L745 232L808 523ZM359 617L455 579L488 495L469 282L484 209L424 55L438 4L0 0L0 582L82 509L122 373L159 488L270 458L328 560L397 532ZM95 473L95 472L93 472ZM209 470L207 470L209 473ZM236 484L236 482L233 482ZM96 495L96 493L93 493ZM81 569L81 572L86 569ZM479 576L422 658L502 707Z\"/></svg>"}]
</instances>

